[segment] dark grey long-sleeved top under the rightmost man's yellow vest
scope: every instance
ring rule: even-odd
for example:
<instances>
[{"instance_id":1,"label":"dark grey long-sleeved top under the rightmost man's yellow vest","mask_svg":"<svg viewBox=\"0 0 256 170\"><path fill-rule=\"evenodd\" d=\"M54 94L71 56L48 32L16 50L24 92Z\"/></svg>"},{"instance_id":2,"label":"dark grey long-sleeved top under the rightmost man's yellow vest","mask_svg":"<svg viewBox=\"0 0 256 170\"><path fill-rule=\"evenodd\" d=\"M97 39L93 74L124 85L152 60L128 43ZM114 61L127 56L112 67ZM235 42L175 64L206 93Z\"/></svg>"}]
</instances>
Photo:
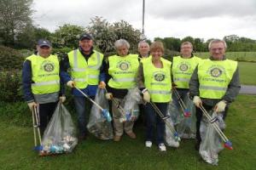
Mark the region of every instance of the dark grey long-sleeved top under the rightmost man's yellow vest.
<instances>
[{"instance_id":1,"label":"dark grey long-sleeved top under the rightmost man's yellow vest","mask_svg":"<svg viewBox=\"0 0 256 170\"><path fill-rule=\"evenodd\" d=\"M213 60L212 57L210 57L210 59ZM224 57L224 59L226 58ZM199 94L200 83L199 83L197 72L198 72L198 66L195 67L195 71L193 72L189 82L189 95L191 98L193 98L194 96L200 96ZM236 67L236 71L233 74L233 77L230 81L230 84L228 85L228 88L226 93L224 94L224 97L222 99L202 98L202 102L209 106L216 105L220 100L225 100L228 103L231 103L235 100L236 96L239 94L240 88L241 88L241 84L239 81L239 71L238 71L238 67Z\"/></svg>"}]
</instances>

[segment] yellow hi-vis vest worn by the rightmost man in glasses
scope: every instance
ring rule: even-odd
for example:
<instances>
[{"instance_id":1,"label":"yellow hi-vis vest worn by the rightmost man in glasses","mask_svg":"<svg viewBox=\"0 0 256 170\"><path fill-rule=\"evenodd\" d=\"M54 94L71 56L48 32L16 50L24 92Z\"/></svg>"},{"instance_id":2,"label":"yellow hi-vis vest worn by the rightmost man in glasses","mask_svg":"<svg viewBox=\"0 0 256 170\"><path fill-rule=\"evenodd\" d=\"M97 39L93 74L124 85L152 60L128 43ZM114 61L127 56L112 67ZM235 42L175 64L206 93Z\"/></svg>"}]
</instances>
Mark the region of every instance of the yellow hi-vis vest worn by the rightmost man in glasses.
<instances>
[{"instance_id":1,"label":"yellow hi-vis vest worn by the rightmost man in glasses","mask_svg":"<svg viewBox=\"0 0 256 170\"><path fill-rule=\"evenodd\" d=\"M201 98L222 99L236 71L237 62L202 59L198 65L199 92Z\"/></svg>"}]
</instances>

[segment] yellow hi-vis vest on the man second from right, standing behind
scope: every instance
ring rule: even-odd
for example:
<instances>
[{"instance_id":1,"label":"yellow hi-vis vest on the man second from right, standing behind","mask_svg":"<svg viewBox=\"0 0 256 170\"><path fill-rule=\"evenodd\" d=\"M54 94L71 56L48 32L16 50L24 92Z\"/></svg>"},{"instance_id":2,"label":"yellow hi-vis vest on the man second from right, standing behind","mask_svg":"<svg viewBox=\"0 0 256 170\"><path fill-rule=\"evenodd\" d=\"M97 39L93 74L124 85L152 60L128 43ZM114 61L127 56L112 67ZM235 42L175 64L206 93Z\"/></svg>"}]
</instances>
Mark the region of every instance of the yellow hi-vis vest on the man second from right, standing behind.
<instances>
[{"instance_id":1,"label":"yellow hi-vis vest on the man second from right, standing behind","mask_svg":"<svg viewBox=\"0 0 256 170\"><path fill-rule=\"evenodd\" d=\"M173 57L172 76L177 88L189 88L190 78L200 60L196 56L189 59L182 58L181 56Z\"/></svg>"}]
</instances>

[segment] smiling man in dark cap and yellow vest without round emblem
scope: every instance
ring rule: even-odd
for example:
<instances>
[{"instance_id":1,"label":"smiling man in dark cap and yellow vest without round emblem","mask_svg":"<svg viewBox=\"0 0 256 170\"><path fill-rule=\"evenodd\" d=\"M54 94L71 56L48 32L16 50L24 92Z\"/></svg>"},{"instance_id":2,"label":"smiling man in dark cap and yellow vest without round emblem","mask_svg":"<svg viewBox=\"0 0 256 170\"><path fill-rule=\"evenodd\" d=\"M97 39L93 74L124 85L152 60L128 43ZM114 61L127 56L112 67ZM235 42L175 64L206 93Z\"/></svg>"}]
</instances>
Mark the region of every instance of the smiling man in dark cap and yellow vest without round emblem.
<instances>
[{"instance_id":1,"label":"smiling man in dark cap and yellow vest without round emblem","mask_svg":"<svg viewBox=\"0 0 256 170\"><path fill-rule=\"evenodd\" d=\"M89 116L91 102L84 94L95 98L97 88L105 88L103 54L93 48L90 34L84 33L79 37L79 48L69 52L61 59L61 77L68 87L72 88L74 104L78 114L79 139L86 138L86 116ZM104 63L104 62L103 62ZM70 74L67 70L70 69Z\"/></svg>"}]
</instances>

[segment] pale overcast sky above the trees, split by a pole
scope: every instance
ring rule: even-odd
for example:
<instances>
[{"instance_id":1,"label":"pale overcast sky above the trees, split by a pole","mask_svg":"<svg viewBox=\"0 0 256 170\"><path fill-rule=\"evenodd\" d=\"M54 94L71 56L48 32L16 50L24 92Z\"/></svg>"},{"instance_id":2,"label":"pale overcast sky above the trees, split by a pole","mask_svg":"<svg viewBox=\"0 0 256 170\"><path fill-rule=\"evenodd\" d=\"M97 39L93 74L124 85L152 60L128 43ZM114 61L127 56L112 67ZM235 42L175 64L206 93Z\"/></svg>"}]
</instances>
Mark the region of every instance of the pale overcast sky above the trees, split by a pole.
<instances>
[{"instance_id":1,"label":"pale overcast sky above the trees, split by a pole","mask_svg":"<svg viewBox=\"0 0 256 170\"><path fill-rule=\"evenodd\" d=\"M90 18L125 20L142 31L143 0L34 0L33 20L49 31L63 24L88 26ZM145 0L145 35L256 39L256 0Z\"/></svg>"}]
</instances>

